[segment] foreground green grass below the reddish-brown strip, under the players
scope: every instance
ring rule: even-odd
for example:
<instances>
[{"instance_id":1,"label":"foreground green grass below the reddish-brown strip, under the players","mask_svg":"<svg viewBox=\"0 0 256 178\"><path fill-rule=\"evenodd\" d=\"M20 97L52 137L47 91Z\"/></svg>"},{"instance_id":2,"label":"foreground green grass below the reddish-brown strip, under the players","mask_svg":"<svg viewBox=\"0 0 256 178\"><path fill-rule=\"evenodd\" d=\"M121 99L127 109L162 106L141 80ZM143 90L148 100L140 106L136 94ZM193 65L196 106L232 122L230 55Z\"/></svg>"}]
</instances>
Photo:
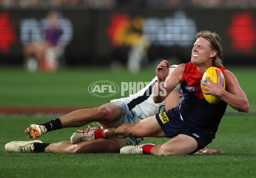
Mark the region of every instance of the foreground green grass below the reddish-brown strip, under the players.
<instances>
[{"instance_id":1,"label":"foreground green grass below the reddish-brown strip, under the players","mask_svg":"<svg viewBox=\"0 0 256 178\"><path fill-rule=\"evenodd\" d=\"M256 177L256 142L253 116L224 116L216 138L208 148L225 154L213 155L120 155L9 153L9 141L26 141L24 129L32 122L42 123L52 117L1 116L0 177ZM68 140L76 128L49 132L40 138L45 143ZM167 138L147 138L143 143L157 144Z\"/></svg>"}]
</instances>

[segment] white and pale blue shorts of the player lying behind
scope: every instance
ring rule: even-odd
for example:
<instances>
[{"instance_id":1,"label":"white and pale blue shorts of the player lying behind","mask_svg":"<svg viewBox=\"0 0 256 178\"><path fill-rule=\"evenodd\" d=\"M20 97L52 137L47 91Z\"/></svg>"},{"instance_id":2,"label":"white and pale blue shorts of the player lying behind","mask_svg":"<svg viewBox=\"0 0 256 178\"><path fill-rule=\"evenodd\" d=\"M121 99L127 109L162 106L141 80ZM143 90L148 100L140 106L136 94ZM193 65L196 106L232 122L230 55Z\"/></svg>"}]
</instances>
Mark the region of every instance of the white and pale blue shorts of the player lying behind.
<instances>
[{"instance_id":1,"label":"white and pale blue shorts of the player lying behind","mask_svg":"<svg viewBox=\"0 0 256 178\"><path fill-rule=\"evenodd\" d=\"M123 107L125 109L125 114L122 116L122 118L120 118L118 121L116 121L116 123L113 126L116 126L116 125L122 124L122 123L137 123L143 119L141 117L142 112L139 111L138 109L136 111L134 109L129 111L127 102L125 101L125 98L111 100L111 102L120 103L123 105ZM139 144L139 142L143 141L145 138L129 138L129 137L127 137L124 139L126 140L128 145L137 145L137 144ZM118 141L118 143L120 144L120 141Z\"/></svg>"}]
</instances>

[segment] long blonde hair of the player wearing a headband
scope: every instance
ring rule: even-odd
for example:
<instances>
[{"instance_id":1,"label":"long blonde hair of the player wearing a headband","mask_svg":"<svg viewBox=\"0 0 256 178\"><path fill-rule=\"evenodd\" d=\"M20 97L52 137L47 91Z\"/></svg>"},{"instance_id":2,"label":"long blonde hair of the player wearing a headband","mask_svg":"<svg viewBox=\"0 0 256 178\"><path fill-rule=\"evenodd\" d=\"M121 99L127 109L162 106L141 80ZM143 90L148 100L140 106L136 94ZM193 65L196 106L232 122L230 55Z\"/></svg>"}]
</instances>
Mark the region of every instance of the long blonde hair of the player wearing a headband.
<instances>
[{"instance_id":1,"label":"long blonde hair of the player wearing a headband","mask_svg":"<svg viewBox=\"0 0 256 178\"><path fill-rule=\"evenodd\" d=\"M209 40L210 44L210 48L212 50L216 50L217 51L217 55L215 57L213 57L212 62L214 66L223 66L222 65L222 42L221 42L221 37L216 34L215 32L210 32L210 31L201 31L198 32L195 35L196 39L200 38L200 37L204 37L207 38Z\"/></svg>"}]
</instances>

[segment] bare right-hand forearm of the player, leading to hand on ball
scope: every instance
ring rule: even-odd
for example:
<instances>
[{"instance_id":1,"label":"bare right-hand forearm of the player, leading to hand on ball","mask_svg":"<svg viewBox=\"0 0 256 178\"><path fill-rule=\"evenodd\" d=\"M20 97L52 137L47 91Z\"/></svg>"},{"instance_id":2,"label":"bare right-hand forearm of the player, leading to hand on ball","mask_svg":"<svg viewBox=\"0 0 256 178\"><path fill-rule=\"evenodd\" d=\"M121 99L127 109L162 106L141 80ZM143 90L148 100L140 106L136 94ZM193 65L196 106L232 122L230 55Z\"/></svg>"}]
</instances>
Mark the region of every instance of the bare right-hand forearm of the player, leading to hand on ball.
<instances>
[{"instance_id":1,"label":"bare right-hand forearm of the player, leading to hand on ball","mask_svg":"<svg viewBox=\"0 0 256 178\"><path fill-rule=\"evenodd\" d=\"M234 95L232 93L223 90L218 97L220 97L224 102L230 105L233 109L236 109L239 112L248 112L249 103L246 96L243 95Z\"/></svg>"}]
</instances>

